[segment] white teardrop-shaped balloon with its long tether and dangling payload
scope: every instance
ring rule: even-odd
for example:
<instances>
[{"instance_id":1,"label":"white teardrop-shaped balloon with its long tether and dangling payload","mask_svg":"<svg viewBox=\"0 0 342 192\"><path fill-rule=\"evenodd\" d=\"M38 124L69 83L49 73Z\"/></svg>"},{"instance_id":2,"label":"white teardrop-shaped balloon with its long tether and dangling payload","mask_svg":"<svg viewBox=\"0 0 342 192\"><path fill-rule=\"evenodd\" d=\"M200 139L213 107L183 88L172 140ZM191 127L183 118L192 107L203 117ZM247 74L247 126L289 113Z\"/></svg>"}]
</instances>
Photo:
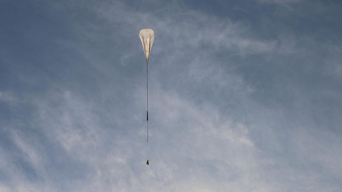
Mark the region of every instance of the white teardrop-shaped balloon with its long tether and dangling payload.
<instances>
[{"instance_id":1,"label":"white teardrop-shaped balloon with its long tether and dangling payload","mask_svg":"<svg viewBox=\"0 0 342 192\"><path fill-rule=\"evenodd\" d=\"M149 66L149 56L150 51L152 48L153 40L154 40L154 31L152 29L142 29L139 32L139 37L141 43L143 43L145 59L146 59L146 83L147 83L147 111L146 111L146 122L147 122L147 160L146 165L150 164L149 159L149 73L148 73L148 66Z\"/></svg>"}]
</instances>

